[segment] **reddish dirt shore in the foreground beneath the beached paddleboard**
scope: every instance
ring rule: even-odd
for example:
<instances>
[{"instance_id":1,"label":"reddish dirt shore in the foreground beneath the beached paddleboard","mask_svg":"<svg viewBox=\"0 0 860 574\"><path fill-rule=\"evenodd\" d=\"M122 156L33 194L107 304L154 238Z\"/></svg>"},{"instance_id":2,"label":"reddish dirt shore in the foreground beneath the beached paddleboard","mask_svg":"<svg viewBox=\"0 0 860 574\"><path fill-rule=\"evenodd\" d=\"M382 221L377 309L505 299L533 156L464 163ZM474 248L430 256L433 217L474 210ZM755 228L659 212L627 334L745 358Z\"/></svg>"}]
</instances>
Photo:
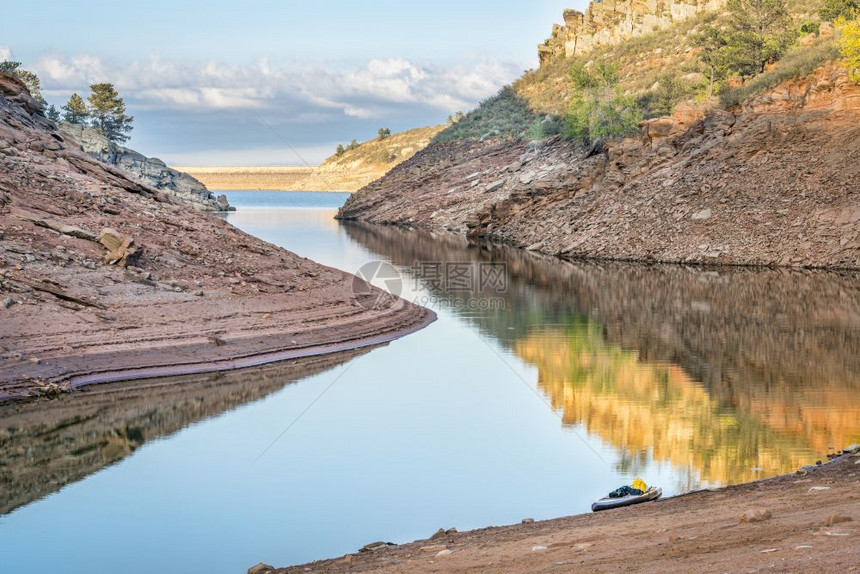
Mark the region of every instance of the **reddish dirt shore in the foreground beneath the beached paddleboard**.
<instances>
[{"instance_id":1,"label":"reddish dirt shore in the foreground beneath the beached paddleboard","mask_svg":"<svg viewBox=\"0 0 860 574\"><path fill-rule=\"evenodd\" d=\"M277 572L852 572L860 561L857 521L855 452L803 475L451 533Z\"/></svg>"}]
</instances>

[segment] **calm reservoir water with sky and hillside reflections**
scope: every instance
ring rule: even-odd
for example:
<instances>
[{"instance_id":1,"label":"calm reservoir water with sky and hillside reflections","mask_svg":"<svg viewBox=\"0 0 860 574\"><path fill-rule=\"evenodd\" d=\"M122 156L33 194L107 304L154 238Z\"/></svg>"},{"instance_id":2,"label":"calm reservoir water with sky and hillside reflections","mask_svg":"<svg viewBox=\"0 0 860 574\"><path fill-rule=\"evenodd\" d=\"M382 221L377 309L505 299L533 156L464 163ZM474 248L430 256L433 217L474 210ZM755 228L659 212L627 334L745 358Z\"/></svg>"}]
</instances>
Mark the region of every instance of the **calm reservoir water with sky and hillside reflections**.
<instances>
[{"instance_id":1,"label":"calm reservoir water with sky and hillside reflections","mask_svg":"<svg viewBox=\"0 0 860 574\"><path fill-rule=\"evenodd\" d=\"M53 427L7 413L0 572L244 572L586 512L636 476L669 495L753 480L860 442L857 275L573 265L340 225L342 194L228 196L231 223L303 256L391 262L439 320L301 372L91 417L58 403Z\"/></svg>"}]
</instances>

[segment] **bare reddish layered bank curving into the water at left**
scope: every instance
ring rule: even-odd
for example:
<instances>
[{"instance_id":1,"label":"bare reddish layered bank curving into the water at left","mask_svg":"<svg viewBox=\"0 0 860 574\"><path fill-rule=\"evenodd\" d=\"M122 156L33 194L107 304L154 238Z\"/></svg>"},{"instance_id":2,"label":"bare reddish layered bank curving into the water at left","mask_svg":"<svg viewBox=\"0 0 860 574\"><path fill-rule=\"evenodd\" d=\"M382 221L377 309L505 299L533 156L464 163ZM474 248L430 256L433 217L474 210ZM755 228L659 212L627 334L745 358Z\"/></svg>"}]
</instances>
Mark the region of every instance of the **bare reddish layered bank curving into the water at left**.
<instances>
[{"instance_id":1,"label":"bare reddish layered bank curving into the water at left","mask_svg":"<svg viewBox=\"0 0 860 574\"><path fill-rule=\"evenodd\" d=\"M89 157L0 75L0 400L359 348L434 318L363 302L352 276Z\"/></svg>"}]
</instances>

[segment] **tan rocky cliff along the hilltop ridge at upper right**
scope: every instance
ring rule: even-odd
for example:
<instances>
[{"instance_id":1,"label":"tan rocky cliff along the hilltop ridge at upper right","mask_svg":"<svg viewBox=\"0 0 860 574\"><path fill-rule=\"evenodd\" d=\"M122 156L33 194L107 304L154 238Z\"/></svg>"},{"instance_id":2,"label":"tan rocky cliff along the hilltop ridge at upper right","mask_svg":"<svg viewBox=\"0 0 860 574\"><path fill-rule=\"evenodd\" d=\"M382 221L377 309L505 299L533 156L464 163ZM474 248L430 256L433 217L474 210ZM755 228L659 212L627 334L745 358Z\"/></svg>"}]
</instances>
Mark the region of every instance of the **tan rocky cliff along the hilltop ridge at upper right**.
<instances>
[{"instance_id":1,"label":"tan rocky cliff along the hilltop ridge at upper right","mask_svg":"<svg viewBox=\"0 0 860 574\"><path fill-rule=\"evenodd\" d=\"M668 28L702 12L718 10L726 0L596 0L583 14L564 11L564 25L538 46L541 65L559 58L587 54Z\"/></svg>"}]
</instances>

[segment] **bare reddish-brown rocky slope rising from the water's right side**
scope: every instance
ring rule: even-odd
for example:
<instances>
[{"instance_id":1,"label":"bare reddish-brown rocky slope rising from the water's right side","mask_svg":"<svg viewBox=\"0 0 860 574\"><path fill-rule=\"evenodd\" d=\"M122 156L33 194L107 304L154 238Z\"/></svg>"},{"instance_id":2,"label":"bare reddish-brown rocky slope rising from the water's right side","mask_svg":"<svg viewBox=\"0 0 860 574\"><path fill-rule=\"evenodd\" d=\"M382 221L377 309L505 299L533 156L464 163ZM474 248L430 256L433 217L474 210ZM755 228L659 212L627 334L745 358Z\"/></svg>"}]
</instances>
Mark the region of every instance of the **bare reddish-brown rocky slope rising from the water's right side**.
<instances>
[{"instance_id":1,"label":"bare reddish-brown rocky slope rising from the water's right side","mask_svg":"<svg viewBox=\"0 0 860 574\"><path fill-rule=\"evenodd\" d=\"M432 145L339 216L571 259L860 268L860 88L829 65L602 148Z\"/></svg>"}]
</instances>

